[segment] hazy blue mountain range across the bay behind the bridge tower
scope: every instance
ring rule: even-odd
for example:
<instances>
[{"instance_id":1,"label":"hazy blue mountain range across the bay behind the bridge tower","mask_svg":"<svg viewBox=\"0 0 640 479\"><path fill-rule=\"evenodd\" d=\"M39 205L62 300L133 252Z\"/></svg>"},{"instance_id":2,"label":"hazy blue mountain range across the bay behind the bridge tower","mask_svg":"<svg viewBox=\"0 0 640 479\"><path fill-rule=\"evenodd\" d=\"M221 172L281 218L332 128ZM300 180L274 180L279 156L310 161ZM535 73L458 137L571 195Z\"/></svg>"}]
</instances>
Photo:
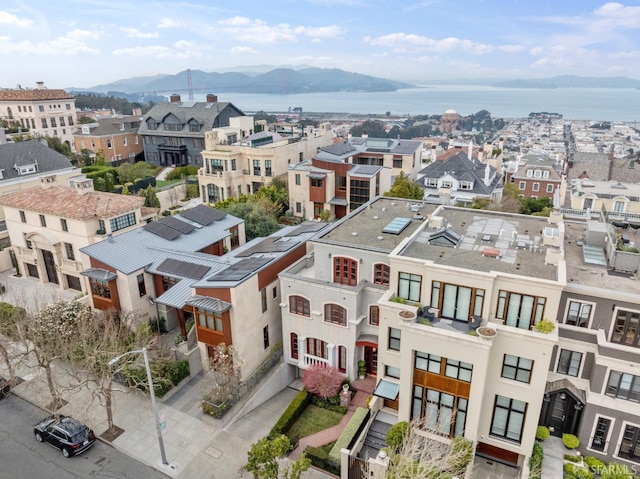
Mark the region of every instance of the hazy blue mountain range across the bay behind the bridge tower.
<instances>
[{"instance_id":1,"label":"hazy blue mountain range across the bay behind the bridge tower","mask_svg":"<svg viewBox=\"0 0 640 479\"><path fill-rule=\"evenodd\" d=\"M264 69L264 68L263 68ZM188 70L175 75L156 75L134 77L113 83L96 85L92 88L70 88L69 90L97 93L154 92L169 95L174 92L188 91ZM396 91L411 88L413 85L360 73L352 73L337 68L302 69L275 68L272 70L245 72L204 72L191 70L191 85L197 93L315 93L337 91Z\"/></svg>"}]
</instances>

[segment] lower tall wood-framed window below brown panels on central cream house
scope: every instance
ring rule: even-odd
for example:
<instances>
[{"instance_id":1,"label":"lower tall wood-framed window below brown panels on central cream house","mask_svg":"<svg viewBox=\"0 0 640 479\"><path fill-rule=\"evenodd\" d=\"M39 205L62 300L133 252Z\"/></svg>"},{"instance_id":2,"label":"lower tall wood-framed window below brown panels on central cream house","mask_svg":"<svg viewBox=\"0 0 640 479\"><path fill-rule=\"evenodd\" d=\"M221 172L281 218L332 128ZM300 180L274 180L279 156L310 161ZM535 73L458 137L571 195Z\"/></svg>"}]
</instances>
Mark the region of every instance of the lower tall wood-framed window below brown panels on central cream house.
<instances>
[{"instance_id":1,"label":"lower tall wood-framed window below brown panels on central cream house","mask_svg":"<svg viewBox=\"0 0 640 479\"><path fill-rule=\"evenodd\" d=\"M467 419L467 399L413 385L412 419L424 418L424 428L447 437L462 436Z\"/></svg>"}]
</instances>

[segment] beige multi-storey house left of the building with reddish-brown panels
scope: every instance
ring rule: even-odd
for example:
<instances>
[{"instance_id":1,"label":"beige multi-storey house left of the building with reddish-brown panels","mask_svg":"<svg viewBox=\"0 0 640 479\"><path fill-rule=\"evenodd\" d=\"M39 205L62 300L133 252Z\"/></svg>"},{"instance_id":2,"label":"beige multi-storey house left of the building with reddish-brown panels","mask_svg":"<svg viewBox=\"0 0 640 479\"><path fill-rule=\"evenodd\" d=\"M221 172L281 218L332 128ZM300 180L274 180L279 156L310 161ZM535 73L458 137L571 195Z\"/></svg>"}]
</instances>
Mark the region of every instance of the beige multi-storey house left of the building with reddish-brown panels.
<instances>
[{"instance_id":1,"label":"beige multi-storey house left of the building with reddish-brown panels","mask_svg":"<svg viewBox=\"0 0 640 479\"><path fill-rule=\"evenodd\" d=\"M319 148L333 142L331 125L307 128L302 135L281 136L255 128L243 129L242 123L252 117L230 118L230 126L215 128L205 135L202 152L204 167L198 172L201 198L204 202L237 198L255 193L273 178L287 174L289 165L310 159ZM244 136L243 136L244 135ZM285 176L286 178L286 176Z\"/></svg>"}]
</instances>

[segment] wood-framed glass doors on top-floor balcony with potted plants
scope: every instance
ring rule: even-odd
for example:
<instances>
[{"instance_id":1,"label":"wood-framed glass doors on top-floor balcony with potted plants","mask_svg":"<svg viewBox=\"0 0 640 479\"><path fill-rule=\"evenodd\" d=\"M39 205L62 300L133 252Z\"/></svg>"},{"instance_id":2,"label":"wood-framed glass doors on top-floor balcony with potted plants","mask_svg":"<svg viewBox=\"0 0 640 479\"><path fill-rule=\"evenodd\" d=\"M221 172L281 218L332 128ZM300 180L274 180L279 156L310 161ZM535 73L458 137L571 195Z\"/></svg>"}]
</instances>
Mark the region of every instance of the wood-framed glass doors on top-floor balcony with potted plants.
<instances>
[{"instance_id":1,"label":"wood-framed glass doors on top-floor balcony with potted plants","mask_svg":"<svg viewBox=\"0 0 640 479\"><path fill-rule=\"evenodd\" d=\"M431 284L431 306L440 310L443 318L469 321L482 316L484 289L468 288L434 281Z\"/></svg>"}]
</instances>

